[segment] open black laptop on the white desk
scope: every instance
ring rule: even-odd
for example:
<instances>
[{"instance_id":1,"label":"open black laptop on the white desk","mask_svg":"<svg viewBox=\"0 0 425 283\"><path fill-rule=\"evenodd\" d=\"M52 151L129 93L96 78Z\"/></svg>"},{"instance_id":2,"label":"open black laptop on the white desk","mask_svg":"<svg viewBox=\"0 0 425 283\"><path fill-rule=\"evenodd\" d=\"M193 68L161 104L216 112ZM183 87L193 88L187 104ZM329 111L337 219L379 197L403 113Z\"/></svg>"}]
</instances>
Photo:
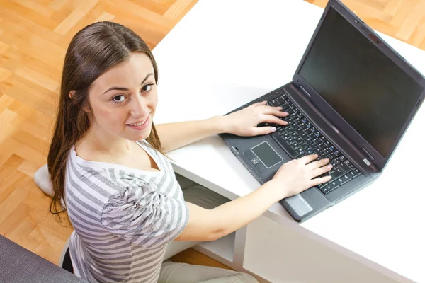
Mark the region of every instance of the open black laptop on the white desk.
<instances>
[{"instance_id":1,"label":"open black laptop on the white desk","mask_svg":"<svg viewBox=\"0 0 425 283\"><path fill-rule=\"evenodd\" d=\"M293 158L329 158L329 183L280 201L293 219L305 221L379 177L424 88L419 71L344 4L330 0L293 81L232 111L266 100L289 113L288 125L274 125L276 132L263 136L220 137L261 184Z\"/></svg>"}]
</instances>

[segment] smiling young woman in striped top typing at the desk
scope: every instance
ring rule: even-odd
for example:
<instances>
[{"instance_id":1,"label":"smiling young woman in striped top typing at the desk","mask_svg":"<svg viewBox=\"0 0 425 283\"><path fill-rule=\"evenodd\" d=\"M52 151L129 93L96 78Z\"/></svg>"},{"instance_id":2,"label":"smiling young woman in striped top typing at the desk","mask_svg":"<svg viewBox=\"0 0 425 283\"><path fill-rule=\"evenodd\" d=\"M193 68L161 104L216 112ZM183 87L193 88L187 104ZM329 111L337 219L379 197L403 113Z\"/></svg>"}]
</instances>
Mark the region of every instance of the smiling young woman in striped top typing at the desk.
<instances>
[{"instance_id":1,"label":"smiling young woman in striped top typing at the desk","mask_svg":"<svg viewBox=\"0 0 425 283\"><path fill-rule=\"evenodd\" d=\"M236 231L284 197L327 182L316 177L330 170L329 161L305 156L285 163L273 180L231 202L179 176L178 182L167 151L221 132L267 134L276 129L256 125L286 125L279 117L288 113L258 103L155 126L157 83L152 52L123 25L88 25L68 47L45 171L50 180L38 172L35 181L50 182L51 211L66 209L72 222L74 273L89 282L256 282L240 272L162 264L167 244L173 241L172 250L185 241L187 248Z\"/></svg>"}]
</instances>

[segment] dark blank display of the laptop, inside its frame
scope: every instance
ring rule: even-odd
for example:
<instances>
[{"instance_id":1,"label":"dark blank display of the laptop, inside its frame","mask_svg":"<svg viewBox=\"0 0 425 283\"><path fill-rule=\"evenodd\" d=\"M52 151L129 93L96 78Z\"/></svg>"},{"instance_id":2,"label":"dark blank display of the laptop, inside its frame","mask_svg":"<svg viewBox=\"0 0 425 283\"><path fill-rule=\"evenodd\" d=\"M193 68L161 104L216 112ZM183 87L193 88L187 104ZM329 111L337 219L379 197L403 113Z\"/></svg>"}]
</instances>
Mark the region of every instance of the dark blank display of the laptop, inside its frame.
<instances>
[{"instance_id":1,"label":"dark blank display of the laptop, inside its frame","mask_svg":"<svg viewBox=\"0 0 425 283\"><path fill-rule=\"evenodd\" d=\"M332 7L300 76L383 157L423 91Z\"/></svg>"}]
</instances>

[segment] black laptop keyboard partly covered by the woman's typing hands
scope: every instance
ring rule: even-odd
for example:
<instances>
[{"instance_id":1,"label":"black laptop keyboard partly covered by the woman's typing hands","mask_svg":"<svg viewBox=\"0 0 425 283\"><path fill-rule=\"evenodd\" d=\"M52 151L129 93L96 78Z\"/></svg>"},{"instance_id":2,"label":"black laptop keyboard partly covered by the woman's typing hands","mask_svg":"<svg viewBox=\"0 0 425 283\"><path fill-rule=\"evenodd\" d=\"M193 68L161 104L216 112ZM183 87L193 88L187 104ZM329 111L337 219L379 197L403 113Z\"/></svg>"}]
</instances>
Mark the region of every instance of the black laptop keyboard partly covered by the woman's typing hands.
<instances>
[{"instance_id":1,"label":"black laptop keyboard partly covered by the woman's typing hands","mask_svg":"<svg viewBox=\"0 0 425 283\"><path fill-rule=\"evenodd\" d=\"M327 195L336 190L341 185L353 180L361 175L361 171L349 161L344 154L331 144L312 123L302 115L297 106L284 93L273 100L269 100L270 106L281 106L283 111L289 115L282 118L288 125L281 126L277 124L261 123L257 127L273 126L276 132L271 134L273 139L285 149L286 153L292 158L301 158L310 154L318 154L319 159L329 158L332 164L331 171L324 173L320 177L331 175L328 183L318 185L317 188Z\"/></svg>"}]
</instances>

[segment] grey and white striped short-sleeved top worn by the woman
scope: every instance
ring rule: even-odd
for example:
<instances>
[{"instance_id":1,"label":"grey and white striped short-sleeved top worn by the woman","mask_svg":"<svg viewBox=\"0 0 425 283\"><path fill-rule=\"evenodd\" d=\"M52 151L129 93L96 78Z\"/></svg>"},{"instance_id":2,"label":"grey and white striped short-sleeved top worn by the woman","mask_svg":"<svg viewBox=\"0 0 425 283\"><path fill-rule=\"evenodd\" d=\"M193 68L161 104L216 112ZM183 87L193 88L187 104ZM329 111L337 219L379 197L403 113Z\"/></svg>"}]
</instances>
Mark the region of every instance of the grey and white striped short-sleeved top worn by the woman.
<instances>
[{"instance_id":1,"label":"grey and white striped short-sleeved top worn by the woman","mask_svg":"<svg viewBox=\"0 0 425 283\"><path fill-rule=\"evenodd\" d=\"M159 171L86 161L69 152L65 203L74 273L89 282L157 282L166 244L188 223L171 163L138 143Z\"/></svg>"}]
</instances>

